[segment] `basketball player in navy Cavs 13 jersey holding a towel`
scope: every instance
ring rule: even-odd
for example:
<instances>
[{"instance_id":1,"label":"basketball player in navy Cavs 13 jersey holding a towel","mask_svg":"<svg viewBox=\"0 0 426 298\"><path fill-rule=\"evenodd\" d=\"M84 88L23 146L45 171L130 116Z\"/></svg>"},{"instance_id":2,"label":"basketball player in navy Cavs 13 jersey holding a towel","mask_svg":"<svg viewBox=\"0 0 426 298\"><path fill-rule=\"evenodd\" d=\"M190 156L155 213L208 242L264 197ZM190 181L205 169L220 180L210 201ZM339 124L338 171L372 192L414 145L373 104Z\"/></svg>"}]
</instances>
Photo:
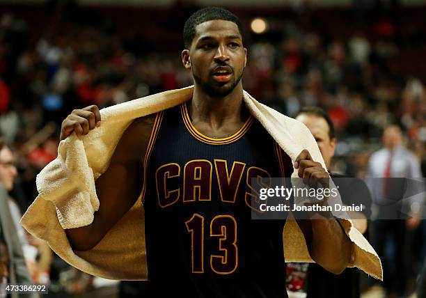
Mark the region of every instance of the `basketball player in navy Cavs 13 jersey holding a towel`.
<instances>
[{"instance_id":1,"label":"basketball player in navy Cavs 13 jersey holding a towel","mask_svg":"<svg viewBox=\"0 0 426 298\"><path fill-rule=\"evenodd\" d=\"M96 181L100 209L89 226L66 230L70 244L93 248L141 197L150 296L287 297L285 219L251 220L251 178L290 177L293 167L306 182L329 175L307 150L292 164L244 107L247 49L235 15L198 10L184 26L184 43L194 96L127 127ZM97 107L74 110L61 140L100 123ZM347 267L352 243L336 219L298 224L316 262L334 273Z\"/></svg>"}]
</instances>

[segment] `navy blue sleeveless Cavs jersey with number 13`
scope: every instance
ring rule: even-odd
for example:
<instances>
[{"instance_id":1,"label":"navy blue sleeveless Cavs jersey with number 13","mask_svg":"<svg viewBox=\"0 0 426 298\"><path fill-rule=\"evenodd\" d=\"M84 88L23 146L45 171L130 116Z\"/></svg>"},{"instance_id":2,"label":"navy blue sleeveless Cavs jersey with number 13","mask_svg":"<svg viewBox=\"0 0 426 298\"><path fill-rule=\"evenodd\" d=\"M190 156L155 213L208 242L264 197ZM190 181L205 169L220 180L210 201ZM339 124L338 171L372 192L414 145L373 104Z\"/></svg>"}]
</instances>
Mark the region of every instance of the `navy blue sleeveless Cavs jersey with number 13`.
<instances>
[{"instance_id":1,"label":"navy blue sleeveless Cavs jersey with number 13","mask_svg":"<svg viewBox=\"0 0 426 298\"><path fill-rule=\"evenodd\" d=\"M285 219L251 219L251 178L291 171L253 116L212 139L192 125L187 103L158 113L142 191L150 296L287 297Z\"/></svg>"}]
</instances>

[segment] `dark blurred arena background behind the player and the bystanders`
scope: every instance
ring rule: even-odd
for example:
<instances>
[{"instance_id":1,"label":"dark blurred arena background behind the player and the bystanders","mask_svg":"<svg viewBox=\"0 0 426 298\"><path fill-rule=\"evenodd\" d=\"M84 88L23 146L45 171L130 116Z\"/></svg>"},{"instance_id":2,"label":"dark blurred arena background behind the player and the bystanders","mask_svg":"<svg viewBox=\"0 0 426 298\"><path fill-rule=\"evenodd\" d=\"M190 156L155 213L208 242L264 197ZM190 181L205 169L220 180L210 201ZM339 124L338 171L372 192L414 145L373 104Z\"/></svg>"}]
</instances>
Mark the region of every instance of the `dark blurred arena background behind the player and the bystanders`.
<instances>
[{"instance_id":1,"label":"dark blurred arena background behind the player and the bystanders","mask_svg":"<svg viewBox=\"0 0 426 298\"><path fill-rule=\"evenodd\" d=\"M251 95L288 116L307 105L329 111L338 133L332 171L363 178L383 127L396 122L425 175L424 0L0 0L0 133L17 155L12 196L22 211L36 198L36 175L56 157L72 109L191 84L180 60L183 24L212 5L243 22ZM425 230L412 232L413 260L400 272L412 290ZM52 297L117 295L116 283L58 258L45 271ZM364 297L381 297L369 285L363 279Z\"/></svg>"}]
</instances>

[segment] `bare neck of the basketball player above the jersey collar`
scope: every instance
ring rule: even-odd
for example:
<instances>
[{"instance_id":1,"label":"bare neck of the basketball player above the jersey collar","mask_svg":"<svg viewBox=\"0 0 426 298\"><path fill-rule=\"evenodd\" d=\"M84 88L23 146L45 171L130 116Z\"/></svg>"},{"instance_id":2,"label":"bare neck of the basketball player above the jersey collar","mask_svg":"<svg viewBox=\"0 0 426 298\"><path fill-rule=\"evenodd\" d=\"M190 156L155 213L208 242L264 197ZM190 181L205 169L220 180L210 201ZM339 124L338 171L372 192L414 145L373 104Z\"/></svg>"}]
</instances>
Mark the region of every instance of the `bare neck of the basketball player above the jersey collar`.
<instances>
[{"instance_id":1,"label":"bare neck of the basketball player above the jersey collar","mask_svg":"<svg viewBox=\"0 0 426 298\"><path fill-rule=\"evenodd\" d=\"M230 123L241 123L247 118L242 111L243 88L241 82L226 96L212 96L197 84L194 86L189 113L194 123L208 123L211 127L222 127Z\"/></svg>"}]
</instances>

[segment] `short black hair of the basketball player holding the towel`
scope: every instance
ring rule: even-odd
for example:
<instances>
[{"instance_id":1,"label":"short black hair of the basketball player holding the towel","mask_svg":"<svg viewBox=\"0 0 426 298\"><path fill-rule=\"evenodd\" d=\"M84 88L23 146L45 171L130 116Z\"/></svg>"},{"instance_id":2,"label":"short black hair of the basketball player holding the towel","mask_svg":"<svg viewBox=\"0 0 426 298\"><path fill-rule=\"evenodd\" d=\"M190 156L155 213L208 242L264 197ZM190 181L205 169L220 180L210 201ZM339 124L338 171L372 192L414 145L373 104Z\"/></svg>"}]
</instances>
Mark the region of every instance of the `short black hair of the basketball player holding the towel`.
<instances>
[{"instance_id":1,"label":"short black hair of the basketball player holding the towel","mask_svg":"<svg viewBox=\"0 0 426 298\"><path fill-rule=\"evenodd\" d=\"M191 47L192 40L196 35L196 26L201 23L212 21L214 19L223 19L230 21L238 26L239 34L242 36L242 24L238 17L231 13L229 10L220 7L206 7L197 10L194 14L187 19L184 25L184 44L187 49Z\"/></svg>"}]
</instances>

